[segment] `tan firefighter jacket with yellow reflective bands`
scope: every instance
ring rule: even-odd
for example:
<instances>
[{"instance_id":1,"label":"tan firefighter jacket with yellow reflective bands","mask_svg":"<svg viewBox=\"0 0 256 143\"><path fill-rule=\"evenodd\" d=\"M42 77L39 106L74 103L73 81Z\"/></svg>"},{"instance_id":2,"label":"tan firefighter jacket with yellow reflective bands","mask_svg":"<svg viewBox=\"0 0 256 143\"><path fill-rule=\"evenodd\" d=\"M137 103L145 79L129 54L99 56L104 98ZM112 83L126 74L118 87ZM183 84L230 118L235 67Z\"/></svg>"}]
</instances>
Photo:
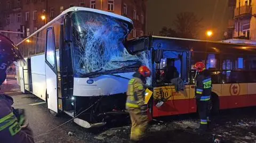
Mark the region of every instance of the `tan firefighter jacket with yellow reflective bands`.
<instances>
[{"instance_id":1,"label":"tan firefighter jacket with yellow reflective bands","mask_svg":"<svg viewBox=\"0 0 256 143\"><path fill-rule=\"evenodd\" d=\"M145 110L145 84L140 78L134 77L129 81L126 95L126 109L140 108Z\"/></svg>"}]
</instances>

